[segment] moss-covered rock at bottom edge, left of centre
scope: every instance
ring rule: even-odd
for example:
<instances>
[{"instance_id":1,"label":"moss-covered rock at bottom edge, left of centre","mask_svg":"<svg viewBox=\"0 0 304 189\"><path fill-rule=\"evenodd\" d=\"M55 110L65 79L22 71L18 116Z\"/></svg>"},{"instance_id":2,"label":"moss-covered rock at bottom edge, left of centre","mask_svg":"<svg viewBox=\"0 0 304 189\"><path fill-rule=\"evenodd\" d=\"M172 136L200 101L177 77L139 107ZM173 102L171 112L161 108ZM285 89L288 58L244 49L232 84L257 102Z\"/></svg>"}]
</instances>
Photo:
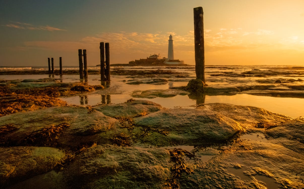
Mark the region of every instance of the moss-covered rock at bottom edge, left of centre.
<instances>
[{"instance_id":1,"label":"moss-covered rock at bottom edge, left of centre","mask_svg":"<svg viewBox=\"0 0 304 189\"><path fill-rule=\"evenodd\" d=\"M64 170L71 188L169 188L171 163L161 148L92 146Z\"/></svg>"}]
</instances>

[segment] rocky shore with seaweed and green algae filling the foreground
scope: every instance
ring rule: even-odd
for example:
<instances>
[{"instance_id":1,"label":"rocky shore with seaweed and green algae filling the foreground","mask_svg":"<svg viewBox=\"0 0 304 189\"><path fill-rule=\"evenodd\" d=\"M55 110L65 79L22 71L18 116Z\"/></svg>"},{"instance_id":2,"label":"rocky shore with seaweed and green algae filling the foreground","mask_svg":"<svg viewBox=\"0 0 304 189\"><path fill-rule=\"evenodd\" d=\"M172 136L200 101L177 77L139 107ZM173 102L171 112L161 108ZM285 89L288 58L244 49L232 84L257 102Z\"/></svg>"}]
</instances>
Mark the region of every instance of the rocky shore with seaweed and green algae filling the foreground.
<instances>
[{"instance_id":1,"label":"rocky shore with seaweed and green algae filling the foreground","mask_svg":"<svg viewBox=\"0 0 304 189\"><path fill-rule=\"evenodd\" d=\"M117 70L130 77L122 82L133 85L191 77ZM210 85L204 92L302 98L302 81L280 74L281 79L260 78L255 84ZM58 99L96 90L106 88L52 78L0 81L0 188L304 187L301 117L224 103L167 109L147 100L75 106ZM199 99L186 86L132 93L134 98L176 95Z\"/></svg>"}]
</instances>

